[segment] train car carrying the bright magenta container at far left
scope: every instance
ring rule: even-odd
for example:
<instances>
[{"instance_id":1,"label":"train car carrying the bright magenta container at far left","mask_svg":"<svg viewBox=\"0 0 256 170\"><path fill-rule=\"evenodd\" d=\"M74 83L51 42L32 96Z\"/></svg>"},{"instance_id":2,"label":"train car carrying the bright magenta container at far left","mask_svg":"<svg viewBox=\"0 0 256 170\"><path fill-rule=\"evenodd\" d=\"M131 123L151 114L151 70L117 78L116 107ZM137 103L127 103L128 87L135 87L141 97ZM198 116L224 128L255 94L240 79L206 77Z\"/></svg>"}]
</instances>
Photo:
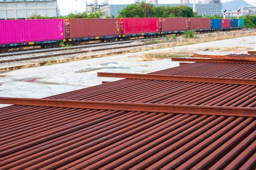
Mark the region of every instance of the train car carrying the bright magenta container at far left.
<instances>
[{"instance_id":1,"label":"train car carrying the bright magenta container at far left","mask_svg":"<svg viewBox=\"0 0 256 170\"><path fill-rule=\"evenodd\" d=\"M22 46L58 46L65 41L63 19L0 20L0 51Z\"/></svg>"}]
</instances>

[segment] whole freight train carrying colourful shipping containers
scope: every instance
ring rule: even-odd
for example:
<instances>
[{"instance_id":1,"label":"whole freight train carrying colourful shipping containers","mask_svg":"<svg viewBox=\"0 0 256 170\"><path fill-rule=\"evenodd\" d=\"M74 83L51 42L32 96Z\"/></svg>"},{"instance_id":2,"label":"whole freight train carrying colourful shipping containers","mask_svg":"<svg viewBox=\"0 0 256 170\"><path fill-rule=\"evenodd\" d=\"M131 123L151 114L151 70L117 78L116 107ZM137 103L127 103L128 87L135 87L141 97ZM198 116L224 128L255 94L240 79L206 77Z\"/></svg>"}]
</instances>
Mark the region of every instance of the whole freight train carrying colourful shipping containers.
<instances>
[{"instance_id":1,"label":"whole freight train carrying colourful shipping containers","mask_svg":"<svg viewBox=\"0 0 256 170\"><path fill-rule=\"evenodd\" d=\"M56 47L62 43L154 38L185 31L242 29L243 19L210 18L95 18L0 20L0 52L23 46Z\"/></svg>"}]
</instances>

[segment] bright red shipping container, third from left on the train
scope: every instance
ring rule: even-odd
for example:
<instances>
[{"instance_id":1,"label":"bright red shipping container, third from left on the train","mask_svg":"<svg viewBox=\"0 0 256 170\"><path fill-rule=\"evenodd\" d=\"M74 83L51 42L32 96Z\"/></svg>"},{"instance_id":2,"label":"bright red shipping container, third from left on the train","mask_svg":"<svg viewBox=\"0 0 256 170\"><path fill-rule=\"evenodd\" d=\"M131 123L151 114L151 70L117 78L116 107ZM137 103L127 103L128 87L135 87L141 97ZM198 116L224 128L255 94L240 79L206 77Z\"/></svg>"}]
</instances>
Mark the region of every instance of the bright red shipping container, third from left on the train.
<instances>
[{"instance_id":1,"label":"bright red shipping container, third from left on the train","mask_svg":"<svg viewBox=\"0 0 256 170\"><path fill-rule=\"evenodd\" d=\"M120 19L122 20L122 19ZM159 33L159 18L124 18L124 35Z\"/></svg>"}]
</instances>

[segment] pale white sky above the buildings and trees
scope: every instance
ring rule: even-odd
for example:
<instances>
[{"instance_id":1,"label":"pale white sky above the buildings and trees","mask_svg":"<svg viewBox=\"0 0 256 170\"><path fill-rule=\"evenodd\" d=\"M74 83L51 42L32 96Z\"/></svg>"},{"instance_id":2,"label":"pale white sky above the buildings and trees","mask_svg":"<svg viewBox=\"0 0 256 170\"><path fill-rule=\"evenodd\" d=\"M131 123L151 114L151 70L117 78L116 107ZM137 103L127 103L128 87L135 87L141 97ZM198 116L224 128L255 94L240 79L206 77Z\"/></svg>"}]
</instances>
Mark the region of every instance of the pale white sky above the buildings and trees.
<instances>
[{"instance_id":1,"label":"pale white sky above the buildings and trees","mask_svg":"<svg viewBox=\"0 0 256 170\"><path fill-rule=\"evenodd\" d=\"M197 3L198 0L195 0ZM232 0L222 0L223 2L230 2ZM245 2L254 5L256 7L256 0L244 0ZM82 13L85 11L85 3L93 3L94 0L57 0L58 8L60 9L61 15L67 15L69 13L75 13L76 11L76 4L77 4L77 11ZM75 3L77 2L77 3ZM104 2L104 0L97 0L98 4ZM132 4L135 0L108 0L110 4ZM146 0L146 2L150 2L150 0ZM189 2L193 2L190 0ZM158 4L179 4L180 0L158 0Z\"/></svg>"}]
</instances>

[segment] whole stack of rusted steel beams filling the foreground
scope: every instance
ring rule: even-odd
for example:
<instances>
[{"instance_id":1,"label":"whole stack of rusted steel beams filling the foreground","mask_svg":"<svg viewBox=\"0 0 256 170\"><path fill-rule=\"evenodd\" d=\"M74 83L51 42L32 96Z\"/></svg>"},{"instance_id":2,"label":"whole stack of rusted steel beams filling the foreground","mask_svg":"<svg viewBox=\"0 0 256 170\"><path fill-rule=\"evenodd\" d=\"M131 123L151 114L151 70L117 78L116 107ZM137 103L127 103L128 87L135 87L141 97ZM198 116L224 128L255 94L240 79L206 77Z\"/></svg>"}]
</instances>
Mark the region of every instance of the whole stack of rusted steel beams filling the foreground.
<instances>
[{"instance_id":1,"label":"whole stack of rusted steel beams filling the foreground","mask_svg":"<svg viewBox=\"0 0 256 170\"><path fill-rule=\"evenodd\" d=\"M210 59L0 98L16 104L0 108L0 169L255 169L256 56L200 57Z\"/></svg>"}]
</instances>

